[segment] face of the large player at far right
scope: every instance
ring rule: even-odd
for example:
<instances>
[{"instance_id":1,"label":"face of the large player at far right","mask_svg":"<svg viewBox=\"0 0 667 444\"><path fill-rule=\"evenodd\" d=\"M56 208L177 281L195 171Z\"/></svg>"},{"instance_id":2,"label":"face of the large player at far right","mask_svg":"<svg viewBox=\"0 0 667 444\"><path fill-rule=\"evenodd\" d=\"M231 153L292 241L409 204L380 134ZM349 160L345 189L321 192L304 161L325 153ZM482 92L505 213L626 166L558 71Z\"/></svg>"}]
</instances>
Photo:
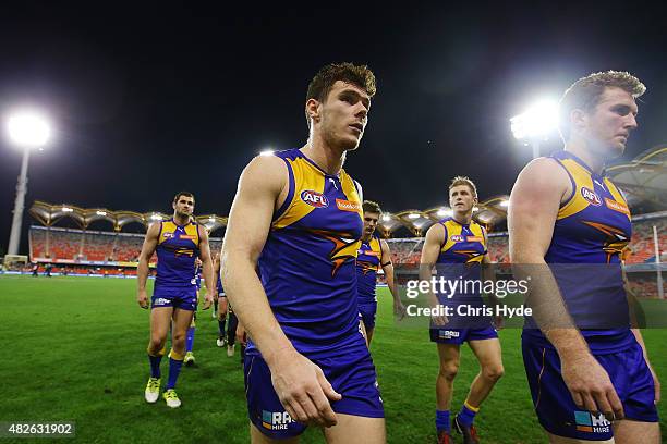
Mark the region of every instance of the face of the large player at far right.
<instances>
[{"instance_id":1,"label":"face of the large player at far right","mask_svg":"<svg viewBox=\"0 0 667 444\"><path fill-rule=\"evenodd\" d=\"M634 98L621 88L608 87L592 114L585 115L584 137L605 159L623 153L630 132L636 128Z\"/></svg>"}]
</instances>

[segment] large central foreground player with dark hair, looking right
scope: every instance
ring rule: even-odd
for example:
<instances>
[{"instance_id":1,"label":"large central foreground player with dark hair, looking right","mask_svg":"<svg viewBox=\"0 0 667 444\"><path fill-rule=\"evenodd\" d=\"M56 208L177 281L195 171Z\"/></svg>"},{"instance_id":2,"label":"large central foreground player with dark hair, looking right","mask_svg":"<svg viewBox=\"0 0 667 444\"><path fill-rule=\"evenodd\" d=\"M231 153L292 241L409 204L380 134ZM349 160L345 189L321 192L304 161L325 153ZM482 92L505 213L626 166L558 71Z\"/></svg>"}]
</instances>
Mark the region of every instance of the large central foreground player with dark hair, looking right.
<instances>
[{"instance_id":1,"label":"large central foreground player with dark hair, looking right","mask_svg":"<svg viewBox=\"0 0 667 444\"><path fill-rule=\"evenodd\" d=\"M251 337L245 382L255 443L295 442L306 424L324 427L329 443L386 441L375 367L359 329L361 190L342 170L374 94L366 66L323 67L306 95L306 144L253 159L239 181L222 280Z\"/></svg>"}]
</instances>

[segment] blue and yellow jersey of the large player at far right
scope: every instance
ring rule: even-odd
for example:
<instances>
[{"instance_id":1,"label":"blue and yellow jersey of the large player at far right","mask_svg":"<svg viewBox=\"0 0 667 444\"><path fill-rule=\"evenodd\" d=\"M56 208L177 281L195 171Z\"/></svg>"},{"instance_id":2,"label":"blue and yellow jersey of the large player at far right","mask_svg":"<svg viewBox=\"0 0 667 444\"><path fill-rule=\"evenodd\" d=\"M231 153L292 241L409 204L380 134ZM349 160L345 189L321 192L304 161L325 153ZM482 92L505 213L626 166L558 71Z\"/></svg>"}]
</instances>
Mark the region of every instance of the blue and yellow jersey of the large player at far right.
<instances>
[{"instance_id":1,"label":"blue and yellow jersey of the large player at far right","mask_svg":"<svg viewBox=\"0 0 667 444\"><path fill-rule=\"evenodd\" d=\"M568 310L591 349L608 349L605 342L622 348L632 337L626 328L628 303L620 263L632 236L628 202L609 178L574 155L563 150L551 158L568 173L572 193L560 205L544 259L553 264Z\"/></svg>"}]
</instances>

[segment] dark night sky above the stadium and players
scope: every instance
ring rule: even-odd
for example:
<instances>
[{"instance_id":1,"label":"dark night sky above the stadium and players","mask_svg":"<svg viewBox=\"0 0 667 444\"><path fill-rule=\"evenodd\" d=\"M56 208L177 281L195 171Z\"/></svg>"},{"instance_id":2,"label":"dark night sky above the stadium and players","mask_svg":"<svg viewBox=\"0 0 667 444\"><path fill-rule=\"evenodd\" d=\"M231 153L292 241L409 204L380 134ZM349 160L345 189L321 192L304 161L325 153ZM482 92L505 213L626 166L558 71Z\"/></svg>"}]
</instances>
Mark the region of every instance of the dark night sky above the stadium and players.
<instances>
[{"instance_id":1,"label":"dark night sky above the stadium and players","mask_svg":"<svg viewBox=\"0 0 667 444\"><path fill-rule=\"evenodd\" d=\"M169 213L187 189L197 214L227 215L253 156L303 145L307 84L333 61L376 74L345 170L388 211L447 203L458 174L481 199L509 193L531 157L509 118L591 72L630 71L647 86L623 159L667 141L665 14L641 2L21 3L0 15L1 118L32 103L57 131L31 159L24 254L34 200ZM559 146L553 137L545 151ZM1 137L2 250L20 165Z\"/></svg>"}]
</instances>

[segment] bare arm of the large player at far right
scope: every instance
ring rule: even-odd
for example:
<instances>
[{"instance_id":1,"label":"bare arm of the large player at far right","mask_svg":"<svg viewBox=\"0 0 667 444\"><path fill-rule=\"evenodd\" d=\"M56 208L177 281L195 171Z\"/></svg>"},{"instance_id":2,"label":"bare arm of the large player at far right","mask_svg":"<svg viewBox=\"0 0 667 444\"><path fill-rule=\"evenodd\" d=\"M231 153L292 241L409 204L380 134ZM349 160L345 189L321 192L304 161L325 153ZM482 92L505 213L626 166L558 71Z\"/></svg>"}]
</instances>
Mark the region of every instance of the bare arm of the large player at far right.
<instances>
[{"instance_id":1,"label":"bare arm of the large player at far right","mask_svg":"<svg viewBox=\"0 0 667 444\"><path fill-rule=\"evenodd\" d=\"M560 202L569 193L567 173L551 159L534 160L519 174L508 211L512 270L518 279L531 276L529 305L533 318L558 351L562 379L574 404L621 419L623 407L609 375L574 326L544 260Z\"/></svg>"}]
</instances>

